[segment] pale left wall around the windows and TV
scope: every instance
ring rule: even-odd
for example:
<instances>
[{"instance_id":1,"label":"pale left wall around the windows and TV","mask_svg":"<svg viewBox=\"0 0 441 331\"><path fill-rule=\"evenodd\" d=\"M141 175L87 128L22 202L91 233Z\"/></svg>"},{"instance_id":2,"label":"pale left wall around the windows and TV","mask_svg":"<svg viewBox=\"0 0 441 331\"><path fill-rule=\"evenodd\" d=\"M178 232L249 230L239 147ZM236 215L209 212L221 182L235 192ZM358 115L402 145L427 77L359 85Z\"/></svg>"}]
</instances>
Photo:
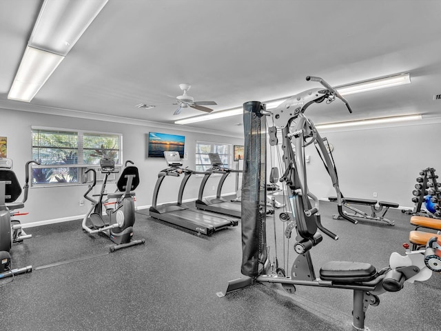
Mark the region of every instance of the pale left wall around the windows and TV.
<instances>
[{"instance_id":1,"label":"pale left wall around the windows and TV","mask_svg":"<svg viewBox=\"0 0 441 331\"><path fill-rule=\"evenodd\" d=\"M118 119L115 119L118 121ZM127 121L122 121L127 122ZM0 109L0 137L8 137L8 157L14 161L14 172L23 186L25 177L25 162L32 158L31 126L45 126L54 128L68 128L91 130L101 132L114 132L123 134L123 159L134 161L139 168L141 183L136 189L136 205L139 208L152 203L152 194L156 183L157 174L167 168L163 158L147 158L146 134L148 132L163 132L181 134L185 136L185 152L187 159L183 160L184 166L194 169L195 143L198 139L232 145L243 145L243 139L227 137L220 134L207 132L189 132L176 130L177 126L167 126L158 123L115 123L112 121L99 121L96 119L83 119L76 117L57 116L54 114L41 114L35 112L21 112L17 110ZM189 179L183 199L196 199L201 177ZM158 198L158 203L176 201L180 179L170 177L165 179ZM224 192L235 192L235 177L225 181ZM212 184L207 185L206 194L216 194ZM113 186L109 186L109 191ZM45 221L60 219L78 219L90 208L86 201L85 206L79 205L87 185L73 185L51 188L30 188L28 201L23 212L30 212L28 216L21 217L22 223L45 223ZM173 200L174 199L174 200ZM21 197L19 198L21 200Z\"/></svg>"}]
</instances>

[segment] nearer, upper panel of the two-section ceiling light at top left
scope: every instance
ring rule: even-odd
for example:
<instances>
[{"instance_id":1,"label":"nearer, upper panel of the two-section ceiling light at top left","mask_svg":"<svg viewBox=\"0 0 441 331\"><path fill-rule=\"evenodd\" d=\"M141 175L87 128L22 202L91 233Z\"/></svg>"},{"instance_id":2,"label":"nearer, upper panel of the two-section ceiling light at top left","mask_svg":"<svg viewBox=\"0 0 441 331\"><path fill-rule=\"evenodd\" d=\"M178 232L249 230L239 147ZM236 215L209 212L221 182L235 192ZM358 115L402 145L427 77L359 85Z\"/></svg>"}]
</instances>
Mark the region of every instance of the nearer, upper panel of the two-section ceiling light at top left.
<instances>
[{"instance_id":1,"label":"nearer, upper panel of the two-section ceiling light at top left","mask_svg":"<svg viewBox=\"0 0 441 331\"><path fill-rule=\"evenodd\" d=\"M66 56L108 0L45 0L29 46Z\"/></svg>"}]
</instances>

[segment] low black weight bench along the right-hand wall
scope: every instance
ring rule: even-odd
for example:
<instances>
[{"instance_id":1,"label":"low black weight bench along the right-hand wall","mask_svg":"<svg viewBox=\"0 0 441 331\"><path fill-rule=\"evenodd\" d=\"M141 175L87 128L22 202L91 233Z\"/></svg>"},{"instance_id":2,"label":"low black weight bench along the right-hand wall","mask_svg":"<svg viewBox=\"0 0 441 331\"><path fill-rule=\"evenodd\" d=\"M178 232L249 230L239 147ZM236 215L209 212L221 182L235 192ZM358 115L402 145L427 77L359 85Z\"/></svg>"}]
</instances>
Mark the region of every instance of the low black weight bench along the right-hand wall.
<instances>
[{"instance_id":1,"label":"low black weight bench along the right-hand wall","mask_svg":"<svg viewBox=\"0 0 441 331\"><path fill-rule=\"evenodd\" d=\"M329 197L329 201L337 202L337 197ZM388 223L389 225L395 225L394 221L390 221L389 219L384 218L387 210L389 208L398 208L398 203L387 202L387 201L376 201L371 199L358 199L358 198L343 198L343 205L352 210L353 214L349 212L343 211L349 217L358 217L362 219L373 219L375 221L383 221ZM378 205L377 205L378 203ZM371 207L371 214L367 214L366 212L362 212L357 208L353 207L353 205L369 205ZM332 215L333 219L341 219L340 215L334 214Z\"/></svg>"}]
</instances>

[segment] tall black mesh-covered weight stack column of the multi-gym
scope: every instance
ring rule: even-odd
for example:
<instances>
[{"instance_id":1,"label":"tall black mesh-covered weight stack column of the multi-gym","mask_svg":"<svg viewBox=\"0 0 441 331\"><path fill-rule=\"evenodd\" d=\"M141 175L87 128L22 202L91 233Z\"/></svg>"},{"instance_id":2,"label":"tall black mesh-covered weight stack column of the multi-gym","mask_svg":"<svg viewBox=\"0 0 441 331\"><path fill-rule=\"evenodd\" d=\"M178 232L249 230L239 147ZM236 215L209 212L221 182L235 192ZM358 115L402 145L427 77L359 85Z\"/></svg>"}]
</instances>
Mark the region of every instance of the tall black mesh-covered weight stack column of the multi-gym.
<instances>
[{"instance_id":1,"label":"tall black mesh-covered weight stack column of the multi-gym","mask_svg":"<svg viewBox=\"0 0 441 331\"><path fill-rule=\"evenodd\" d=\"M266 126L259 101L243 104L245 146L242 179L242 267L256 277L267 261L266 242ZM260 268L259 268L260 267Z\"/></svg>"}]
</instances>

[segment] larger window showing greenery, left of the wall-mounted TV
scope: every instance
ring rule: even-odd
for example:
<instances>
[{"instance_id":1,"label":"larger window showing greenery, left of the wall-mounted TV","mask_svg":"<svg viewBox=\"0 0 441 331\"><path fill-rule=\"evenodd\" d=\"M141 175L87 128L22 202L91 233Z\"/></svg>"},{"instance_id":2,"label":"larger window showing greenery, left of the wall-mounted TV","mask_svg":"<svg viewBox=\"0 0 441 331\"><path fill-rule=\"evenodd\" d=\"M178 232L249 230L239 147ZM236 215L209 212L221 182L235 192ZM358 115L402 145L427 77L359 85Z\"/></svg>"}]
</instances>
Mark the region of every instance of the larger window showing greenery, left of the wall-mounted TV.
<instances>
[{"instance_id":1,"label":"larger window showing greenery, left of the wall-mounted TV","mask_svg":"<svg viewBox=\"0 0 441 331\"><path fill-rule=\"evenodd\" d=\"M86 167L103 157L121 163L121 134L32 128L33 184L83 183Z\"/></svg>"}]
</instances>

